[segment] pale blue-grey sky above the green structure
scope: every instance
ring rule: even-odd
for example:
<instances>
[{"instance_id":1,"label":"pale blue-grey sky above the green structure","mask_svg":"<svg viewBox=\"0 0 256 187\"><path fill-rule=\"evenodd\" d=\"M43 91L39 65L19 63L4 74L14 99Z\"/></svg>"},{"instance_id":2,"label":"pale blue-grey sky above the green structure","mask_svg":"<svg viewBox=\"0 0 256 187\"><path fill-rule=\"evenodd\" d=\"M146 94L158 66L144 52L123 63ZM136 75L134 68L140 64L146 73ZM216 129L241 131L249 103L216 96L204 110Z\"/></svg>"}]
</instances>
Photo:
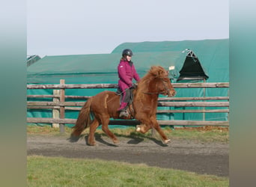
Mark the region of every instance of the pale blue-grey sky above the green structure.
<instances>
[{"instance_id":1,"label":"pale blue-grey sky above the green structure","mask_svg":"<svg viewBox=\"0 0 256 187\"><path fill-rule=\"evenodd\" d=\"M111 53L121 43L229 38L228 0L27 0L27 55Z\"/></svg>"}]
</instances>

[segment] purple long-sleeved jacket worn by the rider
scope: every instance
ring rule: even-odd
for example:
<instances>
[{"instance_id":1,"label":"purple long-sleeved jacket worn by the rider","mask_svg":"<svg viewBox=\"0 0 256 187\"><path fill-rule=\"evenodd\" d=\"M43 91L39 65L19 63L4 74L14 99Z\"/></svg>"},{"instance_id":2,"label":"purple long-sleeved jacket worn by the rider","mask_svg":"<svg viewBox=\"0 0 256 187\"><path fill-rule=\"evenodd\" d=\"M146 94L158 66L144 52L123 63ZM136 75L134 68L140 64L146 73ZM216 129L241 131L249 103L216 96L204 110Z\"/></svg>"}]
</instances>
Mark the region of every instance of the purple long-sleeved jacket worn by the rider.
<instances>
[{"instance_id":1,"label":"purple long-sleeved jacket worn by the rider","mask_svg":"<svg viewBox=\"0 0 256 187\"><path fill-rule=\"evenodd\" d=\"M121 91L132 86L132 79L134 78L137 82L140 80L138 73L135 70L134 65L130 65L132 62L120 61L118 64L118 86L121 88Z\"/></svg>"}]
</instances>

